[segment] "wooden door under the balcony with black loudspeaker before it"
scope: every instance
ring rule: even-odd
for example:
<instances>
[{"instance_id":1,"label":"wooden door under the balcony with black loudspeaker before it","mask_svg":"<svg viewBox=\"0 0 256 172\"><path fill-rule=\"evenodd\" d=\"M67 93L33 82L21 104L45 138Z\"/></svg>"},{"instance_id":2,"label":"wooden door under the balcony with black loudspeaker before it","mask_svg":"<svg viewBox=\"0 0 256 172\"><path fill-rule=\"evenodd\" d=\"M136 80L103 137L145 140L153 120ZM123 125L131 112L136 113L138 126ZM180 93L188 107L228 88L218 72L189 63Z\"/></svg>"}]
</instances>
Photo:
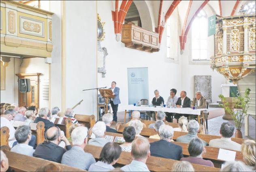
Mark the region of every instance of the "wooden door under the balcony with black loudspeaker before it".
<instances>
[{"instance_id":1,"label":"wooden door under the balcony with black loudspeaker before it","mask_svg":"<svg viewBox=\"0 0 256 172\"><path fill-rule=\"evenodd\" d=\"M30 79L30 92L19 92L19 107L35 105L39 108L39 76L41 73L17 73L16 76ZM19 82L19 80L18 80ZM18 88L19 89L19 88Z\"/></svg>"}]
</instances>

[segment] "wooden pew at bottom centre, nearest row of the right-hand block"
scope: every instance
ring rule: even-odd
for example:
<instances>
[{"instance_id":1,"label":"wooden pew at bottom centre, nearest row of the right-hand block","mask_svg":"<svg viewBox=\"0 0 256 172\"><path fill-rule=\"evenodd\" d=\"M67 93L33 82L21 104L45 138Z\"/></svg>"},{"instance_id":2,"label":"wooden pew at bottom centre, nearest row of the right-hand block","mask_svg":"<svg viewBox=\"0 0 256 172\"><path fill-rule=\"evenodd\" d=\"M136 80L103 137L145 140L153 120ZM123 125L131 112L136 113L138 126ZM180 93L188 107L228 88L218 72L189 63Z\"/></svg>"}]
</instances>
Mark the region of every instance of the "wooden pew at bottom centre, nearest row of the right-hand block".
<instances>
[{"instance_id":1,"label":"wooden pew at bottom centre, nearest row of the right-hand block","mask_svg":"<svg viewBox=\"0 0 256 172\"><path fill-rule=\"evenodd\" d=\"M93 145L86 145L84 151L91 153L94 158L99 159L100 157L100 152L102 150L102 147L98 146L93 146ZM125 166L127 164L130 164L132 162L132 156L131 153L129 152L124 152L122 151L117 164L120 164L122 166ZM173 159L166 159L166 158L160 158L160 157L153 157L150 156L147 159L147 167L149 168L149 171L171 171L173 163L177 162L176 160ZM196 172L218 172L220 171L220 168L214 168L214 167L208 167L208 166L202 166L198 164L192 164Z\"/></svg>"}]
</instances>

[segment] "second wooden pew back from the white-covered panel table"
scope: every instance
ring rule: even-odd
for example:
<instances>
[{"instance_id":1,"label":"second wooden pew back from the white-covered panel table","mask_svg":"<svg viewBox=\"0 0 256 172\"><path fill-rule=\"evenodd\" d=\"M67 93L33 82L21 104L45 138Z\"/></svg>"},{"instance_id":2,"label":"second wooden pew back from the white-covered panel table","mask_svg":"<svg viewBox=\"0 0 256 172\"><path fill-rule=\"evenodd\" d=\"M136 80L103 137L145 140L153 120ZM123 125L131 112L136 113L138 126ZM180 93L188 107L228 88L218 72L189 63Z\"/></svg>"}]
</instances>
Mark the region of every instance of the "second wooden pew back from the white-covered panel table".
<instances>
[{"instance_id":1,"label":"second wooden pew back from the white-covered panel table","mask_svg":"<svg viewBox=\"0 0 256 172\"><path fill-rule=\"evenodd\" d=\"M122 133L124 130L125 126L124 125L119 125L119 127L117 128L117 132ZM141 135L142 136L153 136L157 134L156 131L153 128L143 128L141 131ZM183 136L188 134L187 132L179 132L179 131L174 131L173 134L173 140L176 140L179 136ZM214 136L214 135L209 135L209 134L197 134L197 136L199 138L201 138L202 140L206 141L207 143L209 143L210 140L212 139L216 139L216 138L221 138L221 136ZM231 138L232 141L235 141L236 143L242 144L244 142L245 139L242 138Z\"/></svg>"}]
</instances>

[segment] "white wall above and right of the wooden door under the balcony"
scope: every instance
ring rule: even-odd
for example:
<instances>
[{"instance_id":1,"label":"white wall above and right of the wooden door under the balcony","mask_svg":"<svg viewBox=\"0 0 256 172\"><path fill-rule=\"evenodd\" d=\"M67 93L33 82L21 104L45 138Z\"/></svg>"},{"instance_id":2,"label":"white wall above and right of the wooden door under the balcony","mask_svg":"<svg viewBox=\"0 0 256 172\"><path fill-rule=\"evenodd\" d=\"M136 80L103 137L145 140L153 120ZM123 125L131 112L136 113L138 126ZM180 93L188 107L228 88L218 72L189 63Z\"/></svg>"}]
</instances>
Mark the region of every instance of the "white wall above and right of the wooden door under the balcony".
<instances>
[{"instance_id":1,"label":"white wall above and right of the wooden door under the balcony","mask_svg":"<svg viewBox=\"0 0 256 172\"><path fill-rule=\"evenodd\" d=\"M49 82L49 64L44 58L23 59L20 73L41 73L39 76L39 108L49 107L49 101L43 99L43 85Z\"/></svg>"}]
</instances>

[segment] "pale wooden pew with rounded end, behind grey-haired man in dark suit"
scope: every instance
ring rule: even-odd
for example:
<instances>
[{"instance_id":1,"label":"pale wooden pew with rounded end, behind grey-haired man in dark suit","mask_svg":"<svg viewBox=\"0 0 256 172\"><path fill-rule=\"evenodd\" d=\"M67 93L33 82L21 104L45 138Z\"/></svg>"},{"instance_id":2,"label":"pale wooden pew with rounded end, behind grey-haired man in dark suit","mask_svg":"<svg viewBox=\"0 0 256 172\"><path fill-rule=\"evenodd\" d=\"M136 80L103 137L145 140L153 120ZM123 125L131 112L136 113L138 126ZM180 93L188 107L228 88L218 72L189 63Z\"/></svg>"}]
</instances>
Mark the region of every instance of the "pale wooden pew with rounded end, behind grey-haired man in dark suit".
<instances>
[{"instance_id":1,"label":"pale wooden pew with rounded end, behind grey-haired man in dark suit","mask_svg":"<svg viewBox=\"0 0 256 172\"><path fill-rule=\"evenodd\" d=\"M12 125L14 128L18 128L19 126L27 125L27 122L14 121ZM29 126L32 133L36 135L36 144L43 143L45 141L45 123L40 121L38 123L30 123Z\"/></svg>"}]
</instances>

